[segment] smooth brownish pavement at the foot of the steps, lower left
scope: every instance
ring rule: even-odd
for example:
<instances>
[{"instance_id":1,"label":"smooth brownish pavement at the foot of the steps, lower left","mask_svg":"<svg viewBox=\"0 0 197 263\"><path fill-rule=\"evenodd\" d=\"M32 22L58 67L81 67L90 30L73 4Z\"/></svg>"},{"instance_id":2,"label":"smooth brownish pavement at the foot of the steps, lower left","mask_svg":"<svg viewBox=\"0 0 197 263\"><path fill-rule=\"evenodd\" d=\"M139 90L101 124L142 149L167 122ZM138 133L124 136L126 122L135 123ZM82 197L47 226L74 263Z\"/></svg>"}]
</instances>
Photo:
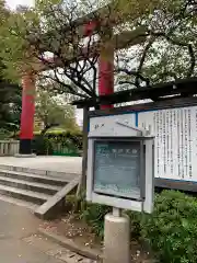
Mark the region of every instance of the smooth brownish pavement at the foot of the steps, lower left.
<instances>
[{"instance_id":1,"label":"smooth brownish pavement at the foot of the steps, lower left","mask_svg":"<svg viewBox=\"0 0 197 263\"><path fill-rule=\"evenodd\" d=\"M34 240L40 221L26 208L0 201L0 262L2 263L62 263L55 258L56 243ZM37 245L36 245L37 243Z\"/></svg>"}]
</instances>

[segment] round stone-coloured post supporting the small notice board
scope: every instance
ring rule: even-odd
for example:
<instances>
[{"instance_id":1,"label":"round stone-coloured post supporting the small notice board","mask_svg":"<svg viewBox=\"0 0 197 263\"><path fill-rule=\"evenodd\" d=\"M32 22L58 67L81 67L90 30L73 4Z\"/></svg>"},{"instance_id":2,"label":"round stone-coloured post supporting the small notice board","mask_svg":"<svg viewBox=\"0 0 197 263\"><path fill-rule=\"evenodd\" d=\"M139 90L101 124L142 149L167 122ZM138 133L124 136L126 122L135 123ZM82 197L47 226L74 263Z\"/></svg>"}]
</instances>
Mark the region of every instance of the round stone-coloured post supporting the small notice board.
<instances>
[{"instance_id":1,"label":"round stone-coloured post supporting the small notice board","mask_svg":"<svg viewBox=\"0 0 197 263\"><path fill-rule=\"evenodd\" d=\"M129 218L120 214L121 209L113 207L113 214L105 216L103 263L130 262Z\"/></svg>"}]
</instances>

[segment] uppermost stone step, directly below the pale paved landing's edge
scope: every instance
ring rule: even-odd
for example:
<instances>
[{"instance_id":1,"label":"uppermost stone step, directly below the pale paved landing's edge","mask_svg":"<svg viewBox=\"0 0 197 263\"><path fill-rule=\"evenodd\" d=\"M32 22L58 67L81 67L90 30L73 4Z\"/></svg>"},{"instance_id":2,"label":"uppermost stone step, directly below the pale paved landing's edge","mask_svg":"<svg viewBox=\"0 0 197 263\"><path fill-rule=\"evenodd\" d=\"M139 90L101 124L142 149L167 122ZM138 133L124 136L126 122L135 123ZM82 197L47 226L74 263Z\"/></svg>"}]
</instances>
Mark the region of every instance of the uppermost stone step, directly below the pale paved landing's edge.
<instances>
[{"instance_id":1,"label":"uppermost stone step, directly below the pale paved landing's edge","mask_svg":"<svg viewBox=\"0 0 197 263\"><path fill-rule=\"evenodd\" d=\"M69 180L67 179L51 178L48 175L15 172L9 170L0 170L0 176L12 178L28 182L37 182L43 184L50 184L56 186L65 186L69 182Z\"/></svg>"}]
</instances>

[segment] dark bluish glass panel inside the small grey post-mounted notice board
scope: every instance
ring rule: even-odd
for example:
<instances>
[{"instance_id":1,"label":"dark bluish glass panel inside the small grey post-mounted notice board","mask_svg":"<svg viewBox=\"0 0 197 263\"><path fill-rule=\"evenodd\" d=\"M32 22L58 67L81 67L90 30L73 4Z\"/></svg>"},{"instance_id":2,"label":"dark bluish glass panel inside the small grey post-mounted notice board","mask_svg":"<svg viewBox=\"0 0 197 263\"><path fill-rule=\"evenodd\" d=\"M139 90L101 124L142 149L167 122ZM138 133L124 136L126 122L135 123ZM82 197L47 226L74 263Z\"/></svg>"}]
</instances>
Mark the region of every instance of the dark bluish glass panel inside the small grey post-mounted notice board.
<instances>
[{"instance_id":1,"label":"dark bluish glass panel inside the small grey post-mounted notice board","mask_svg":"<svg viewBox=\"0 0 197 263\"><path fill-rule=\"evenodd\" d=\"M140 198L140 141L95 141L93 191Z\"/></svg>"}]
</instances>

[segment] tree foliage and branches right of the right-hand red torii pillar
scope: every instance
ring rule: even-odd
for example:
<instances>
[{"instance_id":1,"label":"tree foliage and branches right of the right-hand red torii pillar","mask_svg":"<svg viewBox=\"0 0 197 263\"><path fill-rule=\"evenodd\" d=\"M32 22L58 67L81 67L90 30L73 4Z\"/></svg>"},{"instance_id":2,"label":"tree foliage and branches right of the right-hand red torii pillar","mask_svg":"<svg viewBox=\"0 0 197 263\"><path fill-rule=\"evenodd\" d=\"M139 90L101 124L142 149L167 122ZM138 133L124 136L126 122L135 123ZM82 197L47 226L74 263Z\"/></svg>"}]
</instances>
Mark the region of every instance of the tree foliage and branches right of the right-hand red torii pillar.
<instances>
[{"instance_id":1,"label":"tree foliage and branches right of the right-hand red torii pillar","mask_svg":"<svg viewBox=\"0 0 197 263\"><path fill-rule=\"evenodd\" d=\"M196 1L162 1L153 14L132 21L132 26L147 27L147 41L130 54L118 54L124 89L197 76L196 14Z\"/></svg>"}]
</instances>

